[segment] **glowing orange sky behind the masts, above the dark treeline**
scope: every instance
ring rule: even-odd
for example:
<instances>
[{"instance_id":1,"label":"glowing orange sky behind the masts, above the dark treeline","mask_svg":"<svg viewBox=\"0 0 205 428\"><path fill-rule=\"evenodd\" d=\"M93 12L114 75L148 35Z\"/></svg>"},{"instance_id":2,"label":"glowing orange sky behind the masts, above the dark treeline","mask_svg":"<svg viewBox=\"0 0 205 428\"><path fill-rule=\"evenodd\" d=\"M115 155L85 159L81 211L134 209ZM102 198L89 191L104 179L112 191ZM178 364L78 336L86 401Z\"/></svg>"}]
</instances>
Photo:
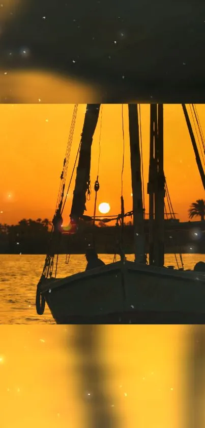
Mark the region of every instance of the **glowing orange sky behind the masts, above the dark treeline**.
<instances>
[{"instance_id":1,"label":"glowing orange sky behind the masts, above the dark treeline","mask_svg":"<svg viewBox=\"0 0 205 428\"><path fill-rule=\"evenodd\" d=\"M205 106L197 105L204 130ZM73 105L16 104L0 105L1 114L1 223L16 223L23 217L52 219L56 204L60 174L73 114ZM189 108L188 108L189 111ZM78 106L68 181L73 168L84 119L85 105ZM141 105L142 145L144 160L145 209L148 212L149 105ZM124 106L125 210L132 209L131 173L128 135L128 107ZM92 149L91 181L94 184L98 169L100 120ZM103 105L101 157L98 203L108 202L110 214L120 212L121 170L123 156L122 105ZM188 220L189 205L204 197L181 105L164 106L164 164L173 210L181 221ZM64 222L70 214L71 185ZM10 196L9 196L10 195ZM93 215L95 195L87 203L87 214ZM99 214L97 212L97 214Z\"/></svg>"}]
</instances>

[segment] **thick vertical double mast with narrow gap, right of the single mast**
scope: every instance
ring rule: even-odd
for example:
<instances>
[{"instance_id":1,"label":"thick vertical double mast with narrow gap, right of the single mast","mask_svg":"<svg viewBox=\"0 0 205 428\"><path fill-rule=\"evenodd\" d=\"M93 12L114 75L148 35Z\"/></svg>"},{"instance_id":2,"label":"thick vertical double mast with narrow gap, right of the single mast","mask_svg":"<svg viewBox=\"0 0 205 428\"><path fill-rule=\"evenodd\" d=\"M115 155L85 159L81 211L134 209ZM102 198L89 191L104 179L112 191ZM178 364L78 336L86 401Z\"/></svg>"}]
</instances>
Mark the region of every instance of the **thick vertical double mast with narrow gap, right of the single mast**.
<instances>
[{"instance_id":1,"label":"thick vertical double mast with narrow gap, right of the single mast","mask_svg":"<svg viewBox=\"0 0 205 428\"><path fill-rule=\"evenodd\" d=\"M149 262L164 266L164 139L163 105L150 106Z\"/></svg>"}]
</instances>

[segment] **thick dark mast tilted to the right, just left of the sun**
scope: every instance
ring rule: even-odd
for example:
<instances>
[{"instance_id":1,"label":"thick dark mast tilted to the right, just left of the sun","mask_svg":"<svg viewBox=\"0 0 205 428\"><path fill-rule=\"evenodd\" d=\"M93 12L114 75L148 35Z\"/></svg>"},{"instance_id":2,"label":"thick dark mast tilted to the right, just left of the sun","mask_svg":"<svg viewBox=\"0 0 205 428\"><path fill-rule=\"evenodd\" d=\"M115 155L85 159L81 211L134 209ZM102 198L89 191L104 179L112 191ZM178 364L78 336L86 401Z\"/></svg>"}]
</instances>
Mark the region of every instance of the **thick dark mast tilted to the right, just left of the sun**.
<instances>
[{"instance_id":1,"label":"thick dark mast tilted to the right, just left of the sun","mask_svg":"<svg viewBox=\"0 0 205 428\"><path fill-rule=\"evenodd\" d=\"M81 134L81 145L73 202L70 213L71 222L78 223L83 215L86 202L86 192L89 189L91 170L91 146L100 111L100 104L87 104L84 124Z\"/></svg>"}]
</instances>

